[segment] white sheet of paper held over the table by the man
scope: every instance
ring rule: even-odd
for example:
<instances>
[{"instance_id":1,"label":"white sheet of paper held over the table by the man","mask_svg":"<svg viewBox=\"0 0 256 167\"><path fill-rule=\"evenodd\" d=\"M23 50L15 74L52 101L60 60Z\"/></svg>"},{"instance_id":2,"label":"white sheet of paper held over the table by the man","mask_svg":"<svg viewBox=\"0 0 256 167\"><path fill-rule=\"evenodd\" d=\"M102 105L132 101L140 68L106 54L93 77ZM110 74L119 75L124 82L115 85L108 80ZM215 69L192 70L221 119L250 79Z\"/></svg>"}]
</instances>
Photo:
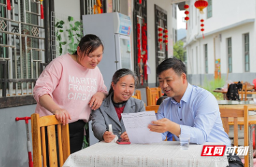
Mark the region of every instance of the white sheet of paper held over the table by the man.
<instances>
[{"instance_id":1,"label":"white sheet of paper held over the table by the man","mask_svg":"<svg viewBox=\"0 0 256 167\"><path fill-rule=\"evenodd\" d=\"M151 132L147 128L152 121L156 121L155 111L143 111L139 113L122 113L122 119L130 143L156 143L162 141L160 133Z\"/></svg>"}]
</instances>

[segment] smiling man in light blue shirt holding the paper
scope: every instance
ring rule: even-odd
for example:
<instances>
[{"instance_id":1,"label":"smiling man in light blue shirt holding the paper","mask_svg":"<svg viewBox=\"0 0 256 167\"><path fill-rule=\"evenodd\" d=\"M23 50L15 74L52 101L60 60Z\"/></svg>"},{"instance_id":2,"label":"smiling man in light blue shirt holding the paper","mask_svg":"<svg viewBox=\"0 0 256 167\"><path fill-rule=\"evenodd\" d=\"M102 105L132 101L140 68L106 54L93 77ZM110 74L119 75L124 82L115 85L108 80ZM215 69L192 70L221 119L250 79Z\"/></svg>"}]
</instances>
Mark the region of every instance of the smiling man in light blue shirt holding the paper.
<instances>
[{"instance_id":1,"label":"smiling man in light blue shirt holding the paper","mask_svg":"<svg viewBox=\"0 0 256 167\"><path fill-rule=\"evenodd\" d=\"M167 58L156 69L160 88L169 96L160 105L158 121L149 125L153 132L162 133L164 140L169 133L179 141L180 134L190 135L190 143L223 143L230 146L230 140L224 131L216 98L207 90L191 86L186 79L186 67L177 58ZM229 162L229 166L243 166L238 162Z\"/></svg>"}]
</instances>

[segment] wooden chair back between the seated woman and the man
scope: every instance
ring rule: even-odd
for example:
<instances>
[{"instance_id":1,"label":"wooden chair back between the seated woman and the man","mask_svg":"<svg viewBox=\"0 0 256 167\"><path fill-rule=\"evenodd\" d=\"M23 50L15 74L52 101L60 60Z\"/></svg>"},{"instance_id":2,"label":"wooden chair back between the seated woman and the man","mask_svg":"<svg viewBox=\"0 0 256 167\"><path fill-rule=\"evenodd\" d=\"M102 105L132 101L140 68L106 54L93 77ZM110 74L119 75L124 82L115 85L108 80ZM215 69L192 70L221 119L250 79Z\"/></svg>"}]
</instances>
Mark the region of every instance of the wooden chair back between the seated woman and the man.
<instances>
[{"instance_id":1,"label":"wooden chair back between the seated woman and the man","mask_svg":"<svg viewBox=\"0 0 256 167\"><path fill-rule=\"evenodd\" d=\"M156 105L156 101L162 96L161 88L146 87L147 105Z\"/></svg>"}]
</instances>

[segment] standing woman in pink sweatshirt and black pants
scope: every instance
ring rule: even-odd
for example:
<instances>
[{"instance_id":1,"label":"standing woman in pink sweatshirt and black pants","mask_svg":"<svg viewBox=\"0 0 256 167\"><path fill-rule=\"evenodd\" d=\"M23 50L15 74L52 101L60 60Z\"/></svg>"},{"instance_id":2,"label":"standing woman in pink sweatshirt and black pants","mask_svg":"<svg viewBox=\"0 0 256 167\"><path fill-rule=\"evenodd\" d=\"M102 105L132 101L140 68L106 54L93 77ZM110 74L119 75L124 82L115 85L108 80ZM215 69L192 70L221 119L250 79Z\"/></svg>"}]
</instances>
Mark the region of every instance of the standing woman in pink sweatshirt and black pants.
<instances>
[{"instance_id":1,"label":"standing woman in pink sweatshirt and black pants","mask_svg":"<svg viewBox=\"0 0 256 167\"><path fill-rule=\"evenodd\" d=\"M97 67L102 54L102 41L96 35L85 35L74 54L55 58L35 83L35 113L55 114L63 125L69 123L70 153L81 149L91 109L98 109L107 95Z\"/></svg>"}]
</instances>

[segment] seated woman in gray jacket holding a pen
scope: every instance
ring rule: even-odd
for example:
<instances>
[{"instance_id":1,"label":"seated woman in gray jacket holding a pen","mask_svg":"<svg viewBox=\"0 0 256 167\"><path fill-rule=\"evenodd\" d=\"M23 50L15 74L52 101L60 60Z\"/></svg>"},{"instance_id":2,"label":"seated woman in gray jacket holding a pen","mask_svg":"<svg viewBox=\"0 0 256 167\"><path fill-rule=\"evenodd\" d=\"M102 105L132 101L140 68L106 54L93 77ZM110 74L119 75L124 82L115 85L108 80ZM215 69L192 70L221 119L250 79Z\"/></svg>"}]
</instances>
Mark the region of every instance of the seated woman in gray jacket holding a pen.
<instances>
[{"instance_id":1,"label":"seated woman in gray jacket holding a pen","mask_svg":"<svg viewBox=\"0 0 256 167\"><path fill-rule=\"evenodd\" d=\"M119 69L115 72L109 95L99 109L91 112L92 130L98 140L109 143L115 135L129 140L121 113L145 111L143 101L131 97L138 82L137 75L129 69ZM109 124L112 124L113 134L108 131Z\"/></svg>"}]
</instances>

